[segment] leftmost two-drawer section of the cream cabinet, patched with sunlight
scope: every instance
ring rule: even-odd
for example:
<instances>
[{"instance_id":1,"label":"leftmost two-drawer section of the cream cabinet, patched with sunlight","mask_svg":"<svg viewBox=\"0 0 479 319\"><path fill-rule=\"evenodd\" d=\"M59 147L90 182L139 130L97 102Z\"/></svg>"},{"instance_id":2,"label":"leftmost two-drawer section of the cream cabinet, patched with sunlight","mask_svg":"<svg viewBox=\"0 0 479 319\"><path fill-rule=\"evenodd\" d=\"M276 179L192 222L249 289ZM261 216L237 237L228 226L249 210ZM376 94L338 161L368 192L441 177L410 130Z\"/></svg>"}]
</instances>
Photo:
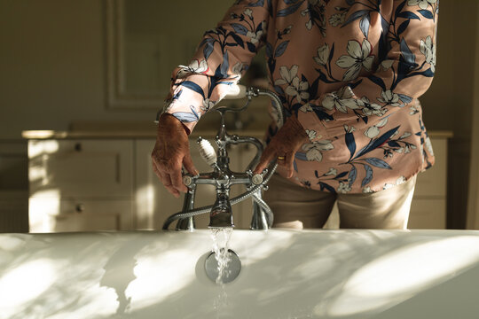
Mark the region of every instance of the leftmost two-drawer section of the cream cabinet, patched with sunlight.
<instances>
[{"instance_id":1,"label":"leftmost two-drawer section of the cream cabinet, patched with sunlight","mask_svg":"<svg viewBox=\"0 0 479 319\"><path fill-rule=\"evenodd\" d=\"M30 140L30 232L132 230L133 141Z\"/></svg>"}]
</instances>

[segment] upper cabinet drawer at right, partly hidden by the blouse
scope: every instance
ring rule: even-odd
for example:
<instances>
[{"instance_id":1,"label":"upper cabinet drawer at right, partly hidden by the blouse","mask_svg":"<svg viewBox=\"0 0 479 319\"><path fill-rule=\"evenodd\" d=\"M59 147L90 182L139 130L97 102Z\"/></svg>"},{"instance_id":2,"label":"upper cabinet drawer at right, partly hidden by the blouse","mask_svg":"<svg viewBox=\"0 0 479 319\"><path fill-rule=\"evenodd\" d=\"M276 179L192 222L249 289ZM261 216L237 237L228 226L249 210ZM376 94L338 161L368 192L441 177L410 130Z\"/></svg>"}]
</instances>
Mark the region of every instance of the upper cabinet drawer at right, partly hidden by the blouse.
<instances>
[{"instance_id":1,"label":"upper cabinet drawer at right, partly hidden by the blouse","mask_svg":"<svg viewBox=\"0 0 479 319\"><path fill-rule=\"evenodd\" d=\"M418 175L414 196L431 197L446 196L447 184L447 140L442 138L432 139L436 163L425 172Z\"/></svg>"}]
</instances>

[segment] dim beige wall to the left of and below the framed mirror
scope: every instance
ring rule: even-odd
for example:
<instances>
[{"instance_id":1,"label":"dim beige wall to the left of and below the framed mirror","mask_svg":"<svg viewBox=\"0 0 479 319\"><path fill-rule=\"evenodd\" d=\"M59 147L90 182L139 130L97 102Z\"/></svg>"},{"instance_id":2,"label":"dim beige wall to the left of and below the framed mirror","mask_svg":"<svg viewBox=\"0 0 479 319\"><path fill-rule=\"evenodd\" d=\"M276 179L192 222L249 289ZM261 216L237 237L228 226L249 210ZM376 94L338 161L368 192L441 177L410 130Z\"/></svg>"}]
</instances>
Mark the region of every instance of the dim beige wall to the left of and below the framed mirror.
<instances>
[{"instance_id":1,"label":"dim beige wall to the left of and below the framed mirror","mask_svg":"<svg viewBox=\"0 0 479 319\"><path fill-rule=\"evenodd\" d=\"M71 121L149 121L107 111L102 1L0 2L0 138Z\"/></svg>"}]
</instances>

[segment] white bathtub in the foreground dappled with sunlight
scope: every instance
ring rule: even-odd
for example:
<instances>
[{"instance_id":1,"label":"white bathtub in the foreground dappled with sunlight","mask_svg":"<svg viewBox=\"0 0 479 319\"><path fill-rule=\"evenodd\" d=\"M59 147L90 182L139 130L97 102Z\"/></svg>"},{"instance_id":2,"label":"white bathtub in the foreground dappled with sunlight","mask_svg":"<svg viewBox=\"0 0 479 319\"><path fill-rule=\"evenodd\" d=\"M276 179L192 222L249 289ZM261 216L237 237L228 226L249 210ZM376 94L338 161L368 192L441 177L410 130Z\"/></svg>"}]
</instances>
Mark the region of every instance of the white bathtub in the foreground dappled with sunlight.
<instances>
[{"instance_id":1,"label":"white bathtub in the foreground dappled with sunlight","mask_svg":"<svg viewBox=\"0 0 479 319\"><path fill-rule=\"evenodd\" d=\"M0 318L479 318L479 231L234 230L240 276L205 275L208 230L0 235Z\"/></svg>"}]
</instances>

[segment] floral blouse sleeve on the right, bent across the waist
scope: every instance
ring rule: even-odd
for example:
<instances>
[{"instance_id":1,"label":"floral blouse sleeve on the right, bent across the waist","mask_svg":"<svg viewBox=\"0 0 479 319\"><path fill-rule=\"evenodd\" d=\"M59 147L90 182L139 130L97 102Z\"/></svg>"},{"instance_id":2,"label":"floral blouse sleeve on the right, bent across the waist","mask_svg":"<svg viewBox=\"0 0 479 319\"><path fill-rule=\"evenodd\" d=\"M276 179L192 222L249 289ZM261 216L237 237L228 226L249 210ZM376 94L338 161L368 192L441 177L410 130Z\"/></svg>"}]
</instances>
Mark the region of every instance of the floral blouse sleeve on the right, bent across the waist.
<instances>
[{"instance_id":1,"label":"floral blouse sleeve on the right, bent across the waist","mask_svg":"<svg viewBox=\"0 0 479 319\"><path fill-rule=\"evenodd\" d=\"M363 43L349 41L349 55L336 61L336 65L349 68L343 76L346 84L303 105L298 111L303 127L330 135L328 128L339 129L346 121L358 118L380 121L384 114L394 113L420 97L435 72L436 22L436 0L395 0L391 20L383 21L384 47L389 49L384 50L381 65L373 74L357 77L362 65L371 64L373 57L366 54L371 51L371 43L367 39ZM328 49L326 46L321 51L326 57ZM310 116L311 112L316 116ZM377 120L373 120L374 116Z\"/></svg>"}]
</instances>

